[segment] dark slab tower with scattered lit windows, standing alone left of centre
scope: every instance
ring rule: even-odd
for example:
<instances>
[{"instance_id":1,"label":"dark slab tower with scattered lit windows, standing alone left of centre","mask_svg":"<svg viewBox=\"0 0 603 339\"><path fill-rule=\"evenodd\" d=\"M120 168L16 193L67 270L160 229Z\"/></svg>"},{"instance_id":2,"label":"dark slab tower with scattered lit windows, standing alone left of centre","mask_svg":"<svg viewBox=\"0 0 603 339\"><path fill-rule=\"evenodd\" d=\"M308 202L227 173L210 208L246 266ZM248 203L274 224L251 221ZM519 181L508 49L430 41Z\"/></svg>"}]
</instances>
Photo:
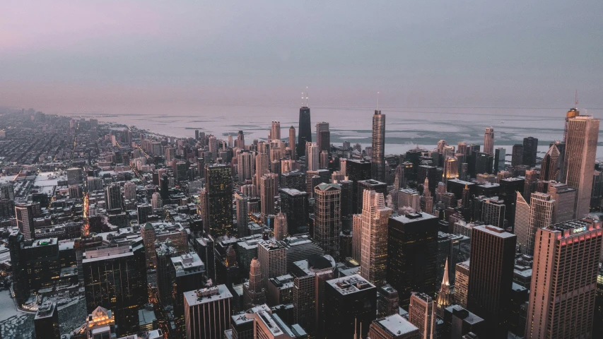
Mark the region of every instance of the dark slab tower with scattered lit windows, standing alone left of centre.
<instances>
[{"instance_id":1,"label":"dark slab tower with scattered lit windows, standing alone left of centre","mask_svg":"<svg viewBox=\"0 0 603 339\"><path fill-rule=\"evenodd\" d=\"M233 226L233 175L230 165L206 165L205 189L209 225L206 228L211 234L230 232Z\"/></svg>"}]
</instances>

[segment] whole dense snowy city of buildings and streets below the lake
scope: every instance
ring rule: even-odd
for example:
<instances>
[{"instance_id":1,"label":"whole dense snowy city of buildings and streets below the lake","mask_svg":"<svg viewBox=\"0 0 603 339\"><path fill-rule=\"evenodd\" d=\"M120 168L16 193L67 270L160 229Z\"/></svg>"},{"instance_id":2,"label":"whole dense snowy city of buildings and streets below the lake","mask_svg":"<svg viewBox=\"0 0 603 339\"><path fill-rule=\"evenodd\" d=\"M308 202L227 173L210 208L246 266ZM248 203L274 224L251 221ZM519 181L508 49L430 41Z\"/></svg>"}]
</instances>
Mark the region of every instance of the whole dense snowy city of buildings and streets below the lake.
<instances>
[{"instance_id":1,"label":"whole dense snowy city of buildings and streets below the lake","mask_svg":"<svg viewBox=\"0 0 603 339\"><path fill-rule=\"evenodd\" d=\"M364 148L307 103L266 141L7 111L0 286L33 326L2 338L599 338L599 119L559 113L546 153L390 155L378 109Z\"/></svg>"}]
</instances>

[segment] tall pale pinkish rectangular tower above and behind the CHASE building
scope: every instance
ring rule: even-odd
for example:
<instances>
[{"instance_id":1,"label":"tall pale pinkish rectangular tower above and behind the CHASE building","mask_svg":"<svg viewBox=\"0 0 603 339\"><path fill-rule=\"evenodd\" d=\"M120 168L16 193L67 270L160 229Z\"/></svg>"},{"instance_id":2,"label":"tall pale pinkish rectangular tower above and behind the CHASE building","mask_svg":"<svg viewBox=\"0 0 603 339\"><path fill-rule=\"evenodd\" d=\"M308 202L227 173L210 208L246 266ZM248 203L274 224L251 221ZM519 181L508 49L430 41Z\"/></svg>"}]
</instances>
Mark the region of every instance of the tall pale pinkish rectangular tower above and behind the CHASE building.
<instances>
[{"instance_id":1,"label":"tall pale pinkish rectangular tower above and behind the CHASE building","mask_svg":"<svg viewBox=\"0 0 603 339\"><path fill-rule=\"evenodd\" d=\"M575 218L590 210L592 173L599 139L599 119L578 116L569 119L566 140L566 184L576 189Z\"/></svg>"}]
</instances>

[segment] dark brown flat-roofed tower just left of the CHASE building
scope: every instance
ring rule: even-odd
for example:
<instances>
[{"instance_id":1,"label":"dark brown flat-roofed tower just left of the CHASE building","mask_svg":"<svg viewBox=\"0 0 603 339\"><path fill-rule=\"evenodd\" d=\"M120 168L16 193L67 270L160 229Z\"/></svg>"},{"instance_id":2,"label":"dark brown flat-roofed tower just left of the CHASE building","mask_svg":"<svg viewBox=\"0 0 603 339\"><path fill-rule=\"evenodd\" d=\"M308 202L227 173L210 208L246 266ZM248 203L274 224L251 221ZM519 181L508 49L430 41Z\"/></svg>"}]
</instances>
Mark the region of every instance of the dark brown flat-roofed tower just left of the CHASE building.
<instances>
[{"instance_id":1,"label":"dark brown flat-roofed tower just left of the CHASE building","mask_svg":"<svg viewBox=\"0 0 603 339\"><path fill-rule=\"evenodd\" d=\"M488 338L507 338L506 313L513 285L517 236L491 225L471 234L467 309L488 324Z\"/></svg>"}]
</instances>

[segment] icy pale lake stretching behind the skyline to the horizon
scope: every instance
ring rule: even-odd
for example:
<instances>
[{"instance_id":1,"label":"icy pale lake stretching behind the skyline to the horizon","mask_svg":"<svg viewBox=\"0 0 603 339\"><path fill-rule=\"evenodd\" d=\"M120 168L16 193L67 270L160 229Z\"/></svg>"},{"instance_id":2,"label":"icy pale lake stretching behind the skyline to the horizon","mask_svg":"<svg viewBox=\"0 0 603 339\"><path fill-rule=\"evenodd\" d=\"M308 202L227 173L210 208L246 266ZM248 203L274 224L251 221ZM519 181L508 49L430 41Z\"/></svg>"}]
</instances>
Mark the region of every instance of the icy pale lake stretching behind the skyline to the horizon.
<instances>
[{"instance_id":1,"label":"icy pale lake stretching behind the skyline to the horizon","mask_svg":"<svg viewBox=\"0 0 603 339\"><path fill-rule=\"evenodd\" d=\"M328 121L331 141L335 145L343 141L370 145L371 124L374 109L370 107L324 106L310 107L312 124ZM551 141L563 138L563 121L567 108L405 108L382 107L386 114L386 153L404 153L416 145L433 148L440 139L450 145L459 141L484 143L484 130L492 126L495 131L495 147L522 143L523 138L539 139L539 150L548 149ZM581 114L603 118L603 109L582 110ZM270 123L281 121L281 136L287 138L288 127L298 129L299 107L286 106L211 106L201 107L198 112L165 112L165 114L71 114L81 117L97 117L99 121L112 121L134 125L168 136L194 136L194 130L220 137L239 130L245 132L245 141L254 138L266 140ZM315 135L312 136L315 138ZM315 139L313 139L315 140ZM603 138L599 136L600 143ZM603 148L599 149L603 152ZM603 153L597 153L603 157Z\"/></svg>"}]
</instances>

